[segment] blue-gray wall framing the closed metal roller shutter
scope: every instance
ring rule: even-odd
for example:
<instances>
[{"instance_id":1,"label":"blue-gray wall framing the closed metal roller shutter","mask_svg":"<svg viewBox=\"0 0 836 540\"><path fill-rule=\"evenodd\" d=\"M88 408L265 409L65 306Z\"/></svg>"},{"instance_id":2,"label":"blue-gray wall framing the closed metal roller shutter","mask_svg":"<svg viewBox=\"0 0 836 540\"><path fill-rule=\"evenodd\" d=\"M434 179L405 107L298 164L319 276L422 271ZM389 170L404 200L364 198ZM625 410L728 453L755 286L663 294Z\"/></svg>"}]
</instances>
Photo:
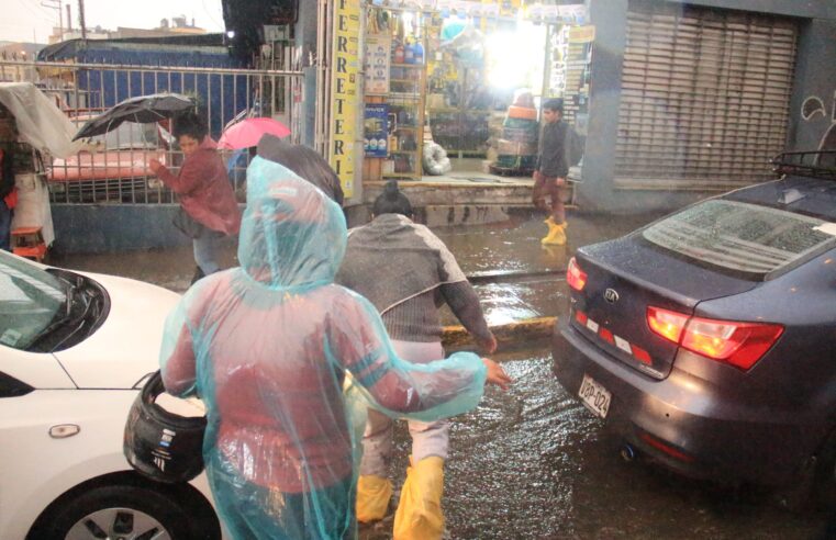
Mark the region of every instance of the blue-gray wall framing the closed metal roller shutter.
<instances>
[{"instance_id":1,"label":"blue-gray wall framing the closed metal roller shutter","mask_svg":"<svg viewBox=\"0 0 836 540\"><path fill-rule=\"evenodd\" d=\"M796 77L791 98L789 149L817 148L836 119L836 1L834 0L659 0L669 3L754 11L800 18ZM588 210L629 213L672 210L714 193L614 190L615 144L621 104L621 77L626 46L628 0L588 0L595 25L590 119L578 203ZM822 99L826 114L801 117L807 98ZM836 128L832 136L836 138Z\"/></svg>"}]
</instances>

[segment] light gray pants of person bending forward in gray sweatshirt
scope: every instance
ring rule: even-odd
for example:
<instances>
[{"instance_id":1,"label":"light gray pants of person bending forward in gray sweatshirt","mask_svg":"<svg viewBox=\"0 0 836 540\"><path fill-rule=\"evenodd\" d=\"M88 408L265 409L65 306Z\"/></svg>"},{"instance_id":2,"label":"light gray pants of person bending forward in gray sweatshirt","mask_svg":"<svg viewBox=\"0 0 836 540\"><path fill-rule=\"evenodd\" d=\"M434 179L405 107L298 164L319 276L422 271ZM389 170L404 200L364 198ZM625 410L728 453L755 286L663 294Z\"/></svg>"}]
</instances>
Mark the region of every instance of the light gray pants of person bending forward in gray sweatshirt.
<instances>
[{"instance_id":1,"label":"light gray pants of person bending forward in gray sweatshirt","mask_svg":"<svg viewBox=\"0 0 836 540\"><path fill-rule=\"evenodd\" d=\"M439 342L416 342L392 340L398 356L413 363L430 363L444 358L444 348ZM412 459L415 463L437 455L447 459L449 442L449 420L416 421L409 420L412 436ZM360 474L389 476L389 460L392 455L393 420L382 413L369 409L366 431L363 434L363 461Z\"/></svg>"}]
</instances>

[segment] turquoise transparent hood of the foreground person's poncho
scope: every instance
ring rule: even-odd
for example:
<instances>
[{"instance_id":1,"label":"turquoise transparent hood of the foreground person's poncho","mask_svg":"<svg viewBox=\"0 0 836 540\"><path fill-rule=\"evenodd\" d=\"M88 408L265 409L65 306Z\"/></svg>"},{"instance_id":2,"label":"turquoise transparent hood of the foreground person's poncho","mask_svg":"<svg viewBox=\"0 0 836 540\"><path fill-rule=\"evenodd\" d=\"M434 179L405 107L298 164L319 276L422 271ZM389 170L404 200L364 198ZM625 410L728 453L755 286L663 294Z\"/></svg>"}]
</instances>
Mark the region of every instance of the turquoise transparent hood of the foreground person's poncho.
<instances>
[{"instance_id":1,"label":"turquoise transparent hood of the foreground person's poncho","mask_svg":"<svg viewBox=\"0 0 836 540\"><path fill-rule=\"evenodd\" d=\"M238 260L253 280L272 289L332 283L345 247L336 203L287 167L253 159L238 243Z\"/></svg>"}]
</instances>

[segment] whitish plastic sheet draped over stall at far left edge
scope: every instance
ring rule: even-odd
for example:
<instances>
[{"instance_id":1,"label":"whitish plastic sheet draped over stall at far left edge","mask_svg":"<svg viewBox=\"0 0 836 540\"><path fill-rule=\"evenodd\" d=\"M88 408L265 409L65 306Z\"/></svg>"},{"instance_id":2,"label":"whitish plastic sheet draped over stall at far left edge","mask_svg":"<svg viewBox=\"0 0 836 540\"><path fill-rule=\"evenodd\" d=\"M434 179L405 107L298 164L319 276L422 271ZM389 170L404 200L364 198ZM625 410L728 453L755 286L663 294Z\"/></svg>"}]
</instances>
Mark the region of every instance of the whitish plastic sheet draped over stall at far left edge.
<instances>
[{"instance_id":1,"label":"whitish plastic sheet draped over stall at far left edge","mask_svg":"<svg viewBox=\"0 0 836 540\"><path fill-rule=\"evenodd\" d=\"M36 150L67 158L85 148L73 143L73 122L33 83L0 82L0 103L14 115L20 140Z\"/></svg>"}]
</instances>

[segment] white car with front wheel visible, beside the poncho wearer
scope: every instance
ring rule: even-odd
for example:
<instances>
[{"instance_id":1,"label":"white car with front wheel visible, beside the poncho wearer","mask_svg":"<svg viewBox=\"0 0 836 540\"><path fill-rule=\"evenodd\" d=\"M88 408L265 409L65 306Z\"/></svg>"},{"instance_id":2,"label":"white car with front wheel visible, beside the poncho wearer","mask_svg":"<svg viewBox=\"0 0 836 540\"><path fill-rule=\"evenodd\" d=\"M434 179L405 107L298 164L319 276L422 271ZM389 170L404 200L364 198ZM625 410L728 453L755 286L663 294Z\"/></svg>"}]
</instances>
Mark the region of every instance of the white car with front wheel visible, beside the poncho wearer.
<instances>
[{"instance_id":1,"label":"white car with front wheel visible, beside the poncho wearer","mask_svg":"<svg viewBox=\"0 0 836 540\"><path fill-rule=\"evenodd\" d=\"M168 485L122 451L179 296L0 251L0 539L215 539L205 475Z\"/></svg>"}]
</instances>

